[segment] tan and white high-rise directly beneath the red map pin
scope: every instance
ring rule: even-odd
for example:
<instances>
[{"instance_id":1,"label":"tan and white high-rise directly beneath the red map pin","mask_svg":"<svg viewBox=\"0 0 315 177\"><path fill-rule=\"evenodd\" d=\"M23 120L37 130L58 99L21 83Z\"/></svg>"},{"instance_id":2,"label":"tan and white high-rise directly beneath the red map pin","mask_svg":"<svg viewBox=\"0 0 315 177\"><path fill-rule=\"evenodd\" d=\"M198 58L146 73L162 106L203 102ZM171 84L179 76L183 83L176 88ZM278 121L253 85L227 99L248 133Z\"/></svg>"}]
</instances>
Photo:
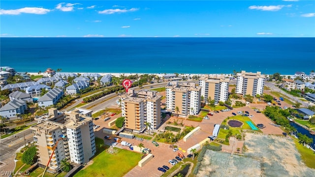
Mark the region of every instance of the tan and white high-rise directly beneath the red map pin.
<instances>
[{"instance_id":1,"label":"tan and white high-rise directly beneath the red map pin","mask_svg":"<svg viewBox=\"0 0 315 177\"><path fill-rule=\"evenodd\" d=\"M125 128L142 132L145 122L148 129L157 129L161 123L161 95L158 91L140 90L128 92L119 96L122 99L122 116L125 117Z\"/></svg>"}]
</instances>

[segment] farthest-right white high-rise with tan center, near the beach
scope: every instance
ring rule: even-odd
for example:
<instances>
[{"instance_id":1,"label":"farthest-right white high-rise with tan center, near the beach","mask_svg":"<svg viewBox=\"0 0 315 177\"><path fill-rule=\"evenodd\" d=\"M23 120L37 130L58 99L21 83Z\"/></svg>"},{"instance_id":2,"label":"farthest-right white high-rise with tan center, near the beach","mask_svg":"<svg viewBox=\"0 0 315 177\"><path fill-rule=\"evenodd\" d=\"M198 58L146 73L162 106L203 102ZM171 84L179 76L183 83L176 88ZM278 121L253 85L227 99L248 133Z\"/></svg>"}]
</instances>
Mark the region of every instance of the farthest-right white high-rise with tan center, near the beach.
<instances>
[{"instance_id":1,"label":"farthest-right white high-rise with tan center, near the beach","mask_svg":"<svg viewBox=\"0 0 315 177\"><path fill-rule=\"evenodd\" d=\"M261 74L261 72L246 72L241 71L241 73L236 74L236 93L243 95L256 96L261 95L264 91L266 76Z\"/></svg>"}]
</instances>

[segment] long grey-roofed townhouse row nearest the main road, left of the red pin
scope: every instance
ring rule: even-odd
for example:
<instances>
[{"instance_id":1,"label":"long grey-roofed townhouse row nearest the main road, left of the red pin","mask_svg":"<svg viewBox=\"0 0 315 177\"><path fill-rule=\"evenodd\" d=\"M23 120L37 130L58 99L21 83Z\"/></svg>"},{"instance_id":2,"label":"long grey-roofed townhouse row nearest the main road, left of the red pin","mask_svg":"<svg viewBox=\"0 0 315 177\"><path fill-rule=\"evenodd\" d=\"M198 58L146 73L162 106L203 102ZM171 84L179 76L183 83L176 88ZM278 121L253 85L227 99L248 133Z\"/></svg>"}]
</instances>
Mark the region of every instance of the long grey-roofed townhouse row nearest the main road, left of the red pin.
<instances>
[{"instance_id":1,"label":"long grey-roofed townhouse row nearest the main road, left of the red pin","mask_svg":"<svg viewBox=\"0 0 315 177\"><path fill-rule=\"evenodd\" d=\"M47 107L56 105L59 99L63 96L63 89L54 88L40 97L37 102L39 107Z\"/></svg>"}]
</instances>

